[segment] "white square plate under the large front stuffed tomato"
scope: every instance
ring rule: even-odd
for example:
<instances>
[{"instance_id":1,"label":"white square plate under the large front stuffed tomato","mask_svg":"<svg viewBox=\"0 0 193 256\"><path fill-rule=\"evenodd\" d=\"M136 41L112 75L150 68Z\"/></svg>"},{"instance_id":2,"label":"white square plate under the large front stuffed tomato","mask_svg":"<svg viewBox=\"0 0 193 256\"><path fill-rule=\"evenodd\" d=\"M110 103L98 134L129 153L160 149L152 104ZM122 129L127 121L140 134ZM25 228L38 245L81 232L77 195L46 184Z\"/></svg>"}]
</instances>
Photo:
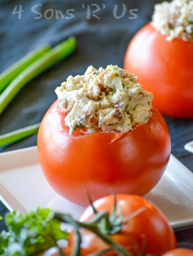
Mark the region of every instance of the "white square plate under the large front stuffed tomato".
<instances>
[{"instance_id":1,"label":"white square plate under the large front stuffed tomato","mask_svg":"<svg viewBox=\"0 0 193 256\"><path fill-rule=\"evenodd\" d=\"M173 155L145 198L162 210L173 228L193 225L193 173ZM84 210L53 191L41 171L36 146L0 153L0 200L10 211L23 213L40 206L78 218Z\"/></svg>"}]
</instances>

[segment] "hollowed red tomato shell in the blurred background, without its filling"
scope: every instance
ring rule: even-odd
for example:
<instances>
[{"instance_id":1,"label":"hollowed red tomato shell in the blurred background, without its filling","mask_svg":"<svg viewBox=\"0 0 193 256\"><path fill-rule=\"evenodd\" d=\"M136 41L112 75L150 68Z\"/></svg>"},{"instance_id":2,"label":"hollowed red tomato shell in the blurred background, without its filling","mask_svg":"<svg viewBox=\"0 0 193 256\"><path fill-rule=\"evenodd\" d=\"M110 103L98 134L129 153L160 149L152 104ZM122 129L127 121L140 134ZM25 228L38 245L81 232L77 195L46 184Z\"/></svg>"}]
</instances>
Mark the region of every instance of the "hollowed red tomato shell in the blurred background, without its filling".
<instances>
[{"instance_id":1,"label":"hollowed red tomato shell in the blurred background, without its filling","mask_svg":"<svg viewBox=\"0 0 193 256\"><path fill-rule=\"evenodd\" d=\"M193 118L193 42L171 42L147 24L130 41L124 69L154 95L152 104L164 115Z\"/></svg>"}]
</instances>

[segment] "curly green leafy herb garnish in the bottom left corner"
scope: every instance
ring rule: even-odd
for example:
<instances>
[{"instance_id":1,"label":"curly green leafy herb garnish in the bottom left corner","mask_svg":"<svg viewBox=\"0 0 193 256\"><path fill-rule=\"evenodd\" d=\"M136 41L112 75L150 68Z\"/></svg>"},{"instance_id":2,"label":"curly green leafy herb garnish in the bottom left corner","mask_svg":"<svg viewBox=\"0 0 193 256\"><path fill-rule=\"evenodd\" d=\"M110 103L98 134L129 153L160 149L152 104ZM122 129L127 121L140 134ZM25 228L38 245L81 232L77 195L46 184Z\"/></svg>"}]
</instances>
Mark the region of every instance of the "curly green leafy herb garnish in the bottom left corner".
<instances>
[{"instance_id":1,"label":"curly green leafy herb garnish in the bottom left corner","mask_svg":"<svg viewBox=\"0 0 193 256\"><path fill-rule=\"evenodd\" d=\"M46 208L37 208L28 214L7 213L5 223L8 231L0 234L0 255L35 256L58 246L60 239L68 239L69 233L61 231L61 222L53 217L54 212Z\"/></svg>"}]
</instances>

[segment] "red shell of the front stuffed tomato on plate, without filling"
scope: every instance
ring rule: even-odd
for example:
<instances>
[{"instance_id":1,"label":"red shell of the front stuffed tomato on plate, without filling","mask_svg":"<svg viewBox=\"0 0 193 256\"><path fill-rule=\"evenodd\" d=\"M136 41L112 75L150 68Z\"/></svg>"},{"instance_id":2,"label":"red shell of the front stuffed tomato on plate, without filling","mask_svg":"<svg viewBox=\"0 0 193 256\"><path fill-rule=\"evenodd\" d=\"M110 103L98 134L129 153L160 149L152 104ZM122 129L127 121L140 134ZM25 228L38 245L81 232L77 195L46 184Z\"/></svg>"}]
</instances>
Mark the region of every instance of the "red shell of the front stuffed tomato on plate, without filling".
<instances>
[{"instance_id":1,"label":"red shell of the front stuffed tomato on plate, without filling","mask_svg":"<svg viewBox=\"0 0 193 256\"><path fill-rule=\"evenodd\" d=\"M53 103L38 132L41 169L62 197L88 205L83 186L93 200L111 193L144 195L160 180L170 157L170 135L161 113L133 131L69 135L65 113Z\"/></svg>"}]
</instances>

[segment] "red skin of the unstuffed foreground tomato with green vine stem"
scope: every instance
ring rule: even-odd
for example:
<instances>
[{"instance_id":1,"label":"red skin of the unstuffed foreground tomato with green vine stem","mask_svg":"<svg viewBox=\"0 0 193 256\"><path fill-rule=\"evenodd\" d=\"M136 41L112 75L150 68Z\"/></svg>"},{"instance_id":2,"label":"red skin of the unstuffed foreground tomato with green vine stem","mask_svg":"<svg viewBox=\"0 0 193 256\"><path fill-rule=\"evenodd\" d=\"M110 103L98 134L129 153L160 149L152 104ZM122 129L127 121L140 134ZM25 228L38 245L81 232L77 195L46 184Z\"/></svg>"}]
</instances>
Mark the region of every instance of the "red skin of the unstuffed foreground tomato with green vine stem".
<instances>
[{"instance_id":1,"label":"red skin of the unstuffed foreground tomato with green vine stem","mask_svg":"<svg viewBox=\"0 0 193 256\"><path fill-rule=\"evenodd\" d=\"M131 218L119 231L110 235L111 239L128 248L133 256L153 254L156 256L166 251L177 248L174 231L171 229L163 213L148 200L128 194L117 194L118 216L123 213L123 221L128 220L131 214L139 209L143 209L136 216ZM112 212L114 207L114 196L108 195L94 202L97 212ZM88 206L80 216L80 222L88 222L93 218L93 209ZM109 248L95 233L81 228L81 256L98 252ZM75 234L72 231L69 239L69 248L73 248ZM144 252L144 254L142 253ZM105 255L118 255L118 253L108 252Z\"/></svg>"}]
</instances>

